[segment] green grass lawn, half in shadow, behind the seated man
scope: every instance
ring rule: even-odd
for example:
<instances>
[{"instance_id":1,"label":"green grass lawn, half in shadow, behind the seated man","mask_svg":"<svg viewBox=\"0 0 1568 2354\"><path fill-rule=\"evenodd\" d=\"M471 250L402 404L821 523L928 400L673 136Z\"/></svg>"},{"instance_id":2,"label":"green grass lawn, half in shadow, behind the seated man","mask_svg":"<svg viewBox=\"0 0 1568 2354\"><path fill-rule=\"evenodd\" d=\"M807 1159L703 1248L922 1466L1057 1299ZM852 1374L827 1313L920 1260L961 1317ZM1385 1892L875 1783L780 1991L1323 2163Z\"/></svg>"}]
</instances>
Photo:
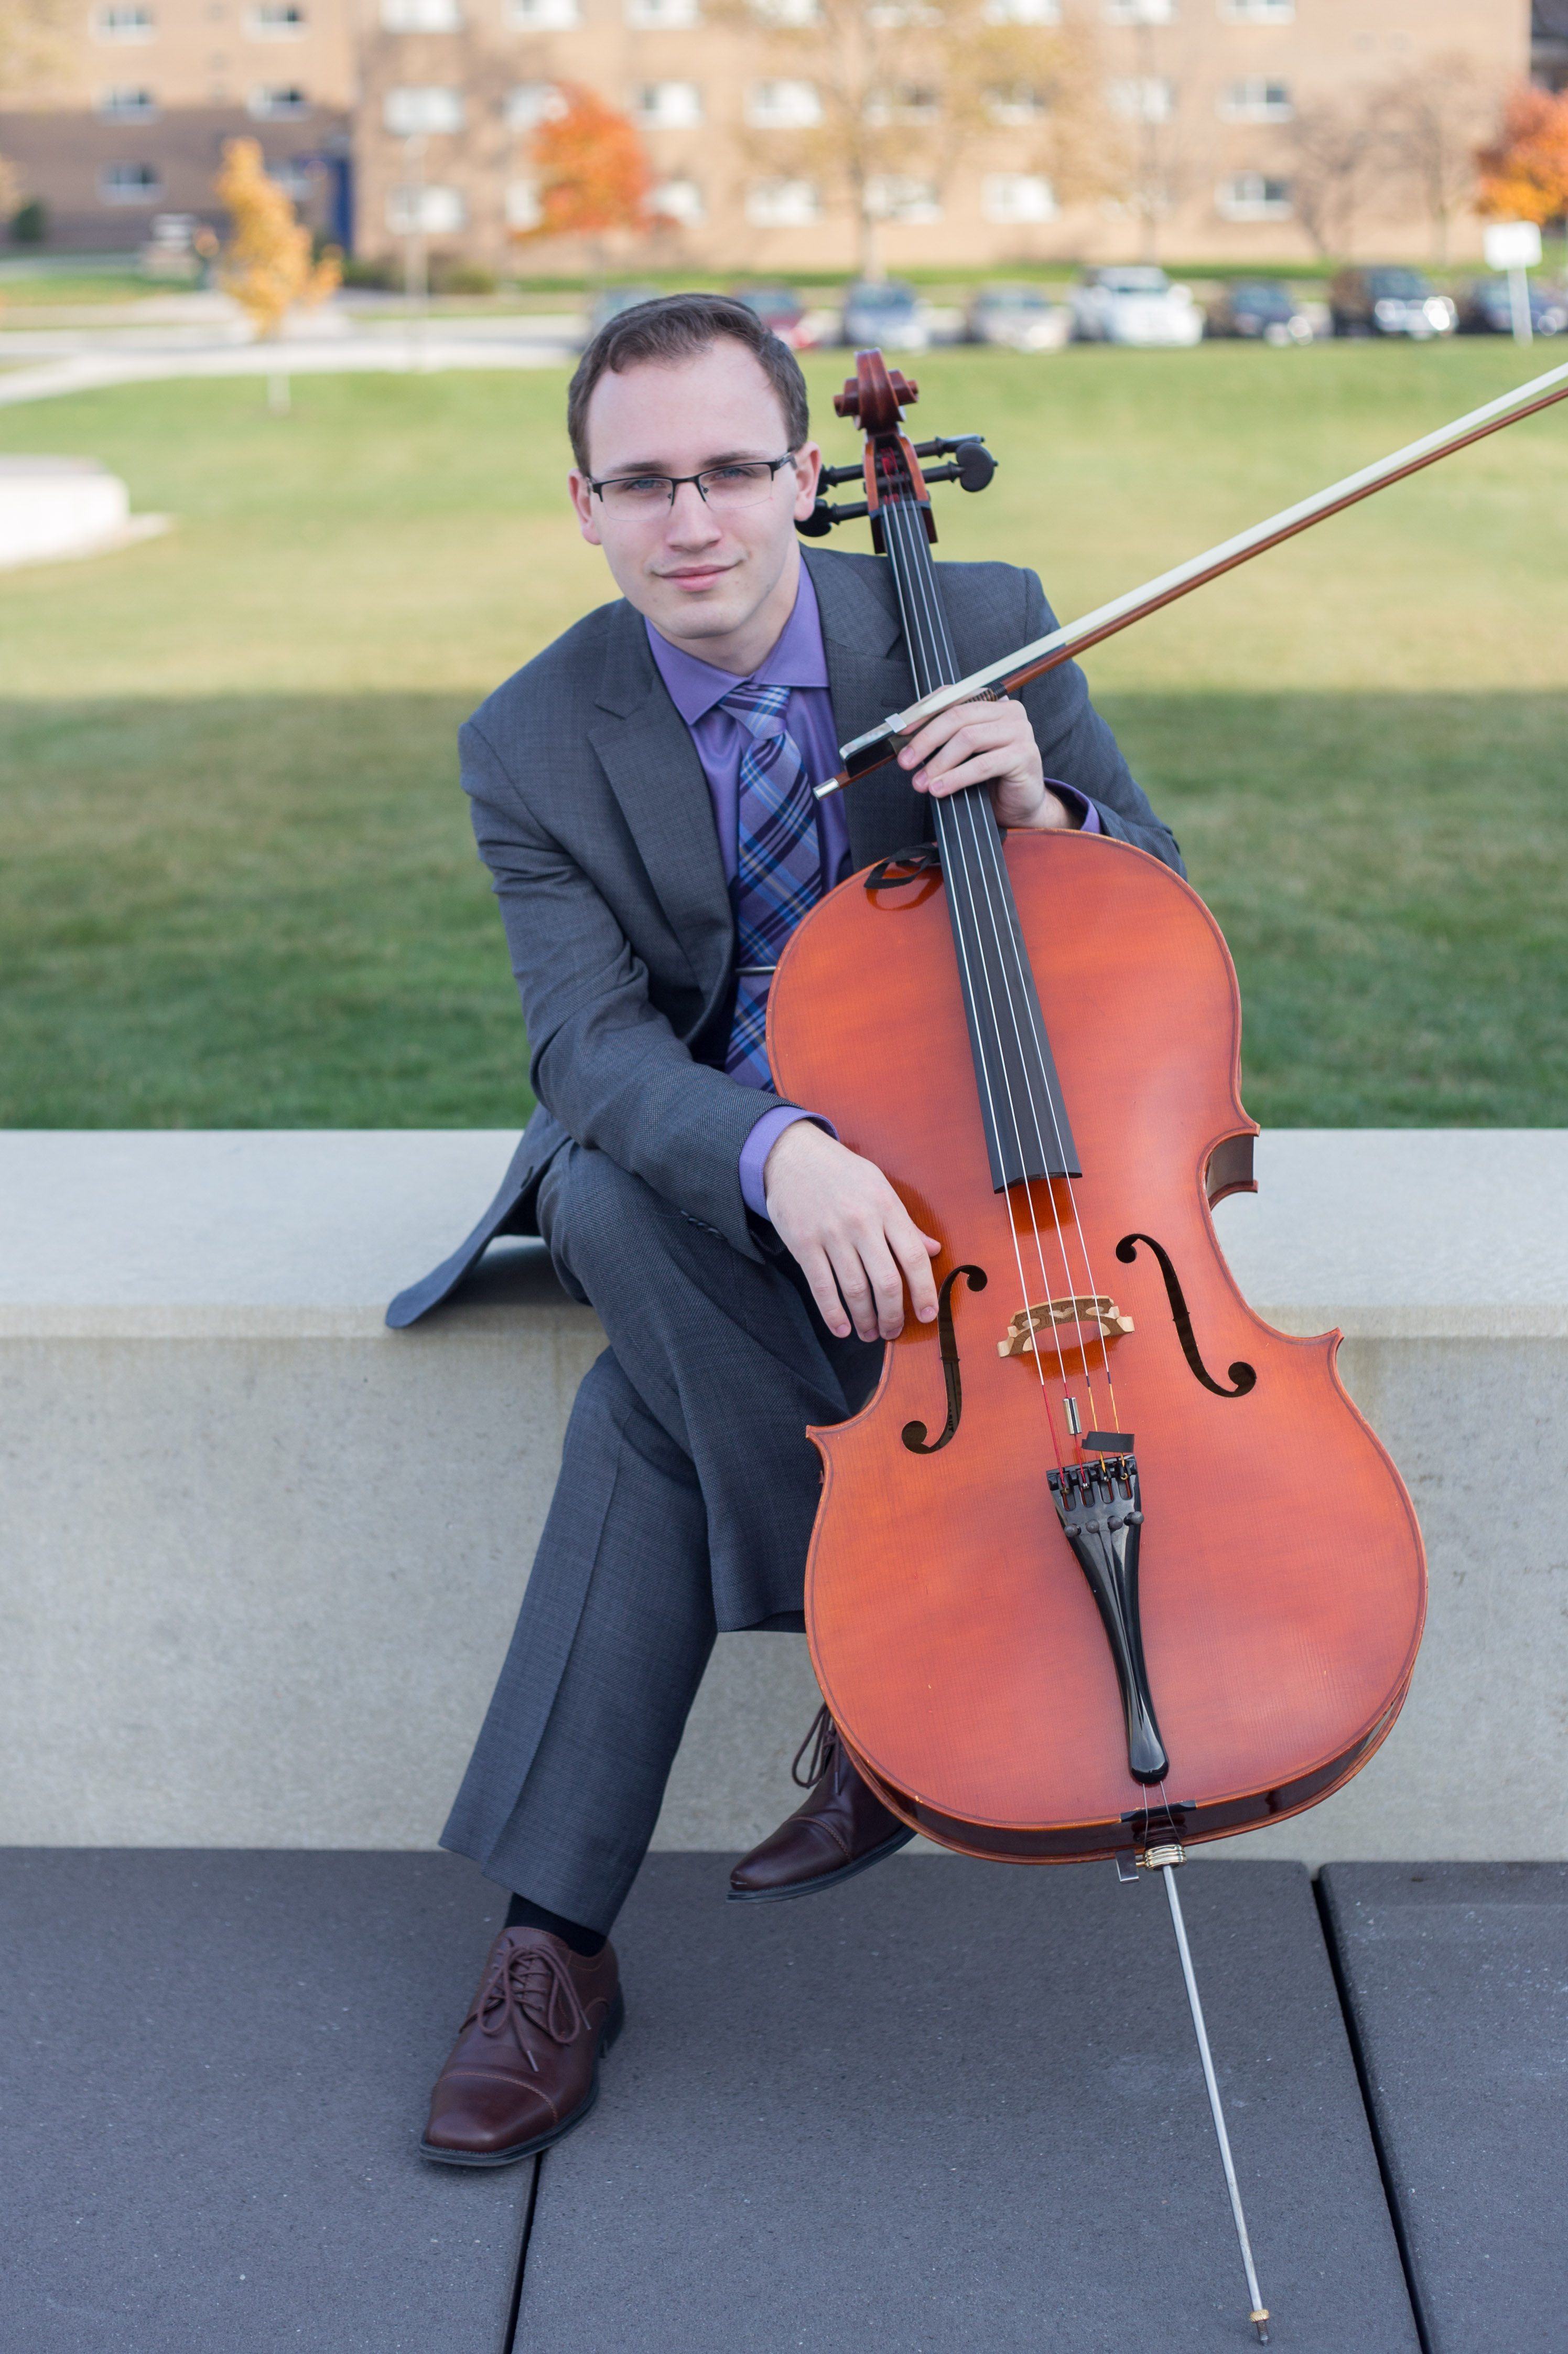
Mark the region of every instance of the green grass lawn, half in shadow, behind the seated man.
<instances>
[{"instance_id":1,"label":"green grass lawn, half in shadow, behind the seated man","mask_svg":"<svg viewBox=\"0 0 1568 2354\"><path fill-rule=\"evenodd\" d=\"M939 556L1062 614L1537 367L1502 341L932 353ZM826 424L841 355L810 363ZM0 574L0 1121L509 1125L527 1109L452 732L607 591L565 381L158 384L0 412L167 539ZM1568 417L1323 525L1090 657L1241 970L1257 1118L1568 1123ZM848 544L864 546L864 525ZM998 652L1003 652L998 647Z\"/></svg>"}]
</instances>

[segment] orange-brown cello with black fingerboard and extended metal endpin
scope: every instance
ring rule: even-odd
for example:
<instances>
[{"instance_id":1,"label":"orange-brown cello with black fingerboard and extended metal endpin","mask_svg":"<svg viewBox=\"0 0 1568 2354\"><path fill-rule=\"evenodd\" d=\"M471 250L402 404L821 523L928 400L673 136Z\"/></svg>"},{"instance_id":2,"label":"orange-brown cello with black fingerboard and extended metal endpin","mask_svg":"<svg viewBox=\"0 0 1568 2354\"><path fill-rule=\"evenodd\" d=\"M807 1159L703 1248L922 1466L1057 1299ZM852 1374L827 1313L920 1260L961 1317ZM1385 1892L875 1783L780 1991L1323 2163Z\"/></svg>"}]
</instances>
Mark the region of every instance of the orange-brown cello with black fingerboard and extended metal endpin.
<instances>
[{"instance_id":1,"label":"orange-brown cello with black fingerboard and extended metal endpin","mask_svg":"<svg viewBox=\"0 0 1568 2354\"><path fill-rule=\"evenodd\" d=\"M921 457L965 487L994 461L977 438L916 450L916 393L857 355L836 407L864 433L864 501L819 499L810 525L869 516L930 711L965 683ZM911 1829L1163 1874L1269 2342L1175 1867L1326 1798L1387 1737L1424 1620L1420 1528L1337 1377L1340 1335L1264 1325L1220 1252L1210 1208L1253 1186L1257 1128L1198 895L1104 836L1003 836L984 786L932 798L932 826L805 916L768 1003L775 1088L942 1243L935 1328L906 1323L864 1410L810 1434L812 1664Z\"/></svg>"}]
</instances>

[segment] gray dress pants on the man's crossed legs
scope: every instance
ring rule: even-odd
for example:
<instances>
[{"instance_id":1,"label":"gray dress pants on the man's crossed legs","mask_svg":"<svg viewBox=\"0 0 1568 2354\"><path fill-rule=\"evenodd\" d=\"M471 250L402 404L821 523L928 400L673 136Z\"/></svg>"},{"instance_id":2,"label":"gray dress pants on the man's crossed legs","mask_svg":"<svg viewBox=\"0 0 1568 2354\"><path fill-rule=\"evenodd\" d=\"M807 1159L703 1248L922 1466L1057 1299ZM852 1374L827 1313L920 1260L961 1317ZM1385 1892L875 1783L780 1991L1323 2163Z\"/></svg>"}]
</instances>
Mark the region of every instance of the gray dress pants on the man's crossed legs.
<instances>
[{"instance_id":1,"label":"gray dress pants on the man's crossed legs","mask_svg":"<svg viewBox=\"0 0 1568 2354\"><path fill-rule=\"evenodd\" d=\"M786 1252L742 1257L579 1144L546 1170L539 1231L610 1346L577 1391L511 1650L440 1843L607 1930L713 1636L800 1624L822 1485L805 1427L857 1412L883 1351L833 1339Z\"/></svg>"}]
</instances>

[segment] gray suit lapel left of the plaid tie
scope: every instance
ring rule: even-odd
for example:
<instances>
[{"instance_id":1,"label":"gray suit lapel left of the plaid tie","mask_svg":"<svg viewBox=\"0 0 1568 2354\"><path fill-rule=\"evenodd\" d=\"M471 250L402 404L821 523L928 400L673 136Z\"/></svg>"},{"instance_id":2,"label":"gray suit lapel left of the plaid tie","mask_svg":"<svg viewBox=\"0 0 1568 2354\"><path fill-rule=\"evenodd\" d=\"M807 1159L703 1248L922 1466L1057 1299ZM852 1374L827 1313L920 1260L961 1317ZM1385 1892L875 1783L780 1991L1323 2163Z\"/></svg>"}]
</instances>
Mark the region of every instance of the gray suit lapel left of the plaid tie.
<instances>
[{"instance_id":1,"label":"gray suit lapel left of the plaid tie","mask_svg":"<svg viewBox=\"0 0 1568 2354\"><path fill-rule=\"evenodd\" d=\"M735 918L709 779L631 605L617 607L596 701L589 742L692 975L713 991L730 963Z\"/></svg>"}]
</instances>

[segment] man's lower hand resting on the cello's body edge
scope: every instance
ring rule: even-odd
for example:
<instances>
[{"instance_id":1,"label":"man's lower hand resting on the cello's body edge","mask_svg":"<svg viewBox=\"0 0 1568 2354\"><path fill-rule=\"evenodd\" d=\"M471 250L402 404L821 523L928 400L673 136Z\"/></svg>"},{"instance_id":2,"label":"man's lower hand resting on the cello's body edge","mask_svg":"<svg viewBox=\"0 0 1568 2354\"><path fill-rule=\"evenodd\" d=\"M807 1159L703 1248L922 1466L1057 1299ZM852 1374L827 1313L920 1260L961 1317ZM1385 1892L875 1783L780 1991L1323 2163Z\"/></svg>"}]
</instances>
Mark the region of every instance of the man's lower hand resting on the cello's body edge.
<instances>
[{"instance_id":1,"label":"man's lower hand resting on the cello's body edge","mask_svg":"<svg viewBox=\"0 0 1568 2354\"><path fill-rule=\"evenodd\" d=\"M763 1163L768 1217L805 1269L822 1321L838 1339L897 1339L904 1285L921 1323L937 1314L930 1262L942 1243L921 1233L873 1161L812 1121L791 1121ZM845 1316L848 1306L848 1316Z\"/></svg>"}]
</instances>

